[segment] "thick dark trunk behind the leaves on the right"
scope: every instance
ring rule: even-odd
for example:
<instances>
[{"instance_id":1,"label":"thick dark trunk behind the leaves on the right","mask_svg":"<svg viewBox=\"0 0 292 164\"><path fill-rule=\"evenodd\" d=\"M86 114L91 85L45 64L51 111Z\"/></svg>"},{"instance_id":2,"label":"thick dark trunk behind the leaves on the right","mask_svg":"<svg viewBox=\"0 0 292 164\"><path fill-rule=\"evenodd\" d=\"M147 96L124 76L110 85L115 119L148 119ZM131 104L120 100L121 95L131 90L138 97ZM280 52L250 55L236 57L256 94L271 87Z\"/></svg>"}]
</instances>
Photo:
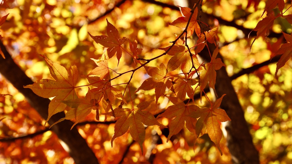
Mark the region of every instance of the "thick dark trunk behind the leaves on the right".
<instances>
[{"instance_id":1,"label":"thick dark trunk behind the leaves on the right","mask_svg":"<svg viewBox=\"0 0 292 164\"><path fill-rule=\"evenodd\" d=\"M213 54L215 45L208 44L208 47L211 54ZM199 55L206 61L211 60L206 48ZM222 59L220 54L218 54L217 58ZM226 94L220 107L226 111L231 119L224 128L227 131L227 147L232 155L232 161L234 164L259 164L258 151L253 145L248 124L244 118L244 112L231 84L232 80L227 75L225 67L217 70L216 73L215 91L218 97Z\"/></svg>"}]
</instances>

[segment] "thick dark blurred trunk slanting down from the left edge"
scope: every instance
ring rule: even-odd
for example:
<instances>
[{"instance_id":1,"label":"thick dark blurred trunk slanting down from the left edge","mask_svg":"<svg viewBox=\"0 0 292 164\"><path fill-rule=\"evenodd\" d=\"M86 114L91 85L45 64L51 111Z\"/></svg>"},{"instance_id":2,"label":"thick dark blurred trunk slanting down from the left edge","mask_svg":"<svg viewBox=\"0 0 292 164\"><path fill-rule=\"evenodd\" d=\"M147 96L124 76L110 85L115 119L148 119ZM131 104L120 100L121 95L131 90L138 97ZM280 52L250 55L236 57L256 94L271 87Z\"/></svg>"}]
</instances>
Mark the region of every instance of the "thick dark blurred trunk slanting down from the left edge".
<instances>
[{"instance_id":1,"label":"thick dark blurred trunk slanting down from the left edge","mask_svg":"<svg viewBox=\"0 0 292 164\"><path fill-rule=\"evenodd\" d=\"M42 98L32 92L31 89L23 88L25 85L33 84L32 80L25 75L25 73L15 64L6 47L0 41L0 47L5 55L6 59L0 56L0 73L9 81L13 86L22 93L27 101L34 109L39 112L41 117L47 119L48 117L48 105L50 100L48 98ZM29 112L29 111L27 111ZM53 124L61 118L64 118L64 113L58 113L53 115L48 121L48 124ZM93 151L88 147L88 144L84 138L79 134L76 126L72 128L72 121L65 120L54 125L51 130L55 132L59 139L67 144L69 148L69 154L74 159L76 164L92 163L98 164L98 160Z\"/></svg>"}]
</instances>

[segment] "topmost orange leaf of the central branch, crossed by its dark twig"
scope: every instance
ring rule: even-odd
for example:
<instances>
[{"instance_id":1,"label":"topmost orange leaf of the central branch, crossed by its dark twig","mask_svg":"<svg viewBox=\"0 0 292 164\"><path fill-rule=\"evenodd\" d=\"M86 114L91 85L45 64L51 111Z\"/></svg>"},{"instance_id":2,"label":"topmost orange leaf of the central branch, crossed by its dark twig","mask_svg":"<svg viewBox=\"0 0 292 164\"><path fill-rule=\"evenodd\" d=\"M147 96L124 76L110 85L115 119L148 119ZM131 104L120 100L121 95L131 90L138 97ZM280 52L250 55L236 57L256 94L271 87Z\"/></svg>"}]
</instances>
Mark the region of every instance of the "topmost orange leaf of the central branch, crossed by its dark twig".
<instances>
[{"instance_id":1,"label":"topmost orange leaf of the central branch, crossed by its dark twig","mask_svg":"<svg viewBox=\"0 0 292 164\"><path fill-rule=\"evenodd\" d=\"M180 7L180 10L182 11L184 17L179 17L178 19L176 19L173 22L168 23L168 24L170 24L172 26L179 27L179 28L185 28L187 26L187 22L189 21L190 16L191 16L191 9L188 7L181 7L181 6L179 6L179 7ZM194 10L194 14L192 15L189 27L187 29L187 36L192 36L194 31L196 32L197 36L199 36L201 33L200 26L197 22L197 15L198 15L198 9L196 8Z\"/></svg>"}]
</instances>

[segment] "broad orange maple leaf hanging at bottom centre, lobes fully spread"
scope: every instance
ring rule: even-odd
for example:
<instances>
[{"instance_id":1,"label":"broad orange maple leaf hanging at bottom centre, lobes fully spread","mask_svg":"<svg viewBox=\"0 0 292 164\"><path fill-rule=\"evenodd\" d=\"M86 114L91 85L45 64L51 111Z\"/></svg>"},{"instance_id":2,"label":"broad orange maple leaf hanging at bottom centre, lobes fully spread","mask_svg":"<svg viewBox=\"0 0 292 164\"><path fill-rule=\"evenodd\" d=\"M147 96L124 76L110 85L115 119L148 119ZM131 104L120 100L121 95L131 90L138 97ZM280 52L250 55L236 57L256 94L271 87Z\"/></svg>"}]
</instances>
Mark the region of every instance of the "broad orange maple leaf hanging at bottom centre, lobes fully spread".
<instances>
[{"instance_id":1,"label":"broad orange maple leaf hanging at bottom centre, lobes fully spread","mask_svg":"<svg viewBox=\"0 0 292 164\"><path fill-rule=\"evenodd\" d=\"M129 108L114 109L116 117L121 118L119 118L114 125L114 136L112 137L111 140L112 145L114 139L125 134L130 128L130 134L132 138L140 144L140 148L143 153L142 144L145 140L144 125L146 126L158 125L166 128L166 126L161 125L150 112L145 111L145 109L150 105L152 101L141 102L134 109ZM112 115L112 113L105 114Z\"/></svg>"}]
</instances>

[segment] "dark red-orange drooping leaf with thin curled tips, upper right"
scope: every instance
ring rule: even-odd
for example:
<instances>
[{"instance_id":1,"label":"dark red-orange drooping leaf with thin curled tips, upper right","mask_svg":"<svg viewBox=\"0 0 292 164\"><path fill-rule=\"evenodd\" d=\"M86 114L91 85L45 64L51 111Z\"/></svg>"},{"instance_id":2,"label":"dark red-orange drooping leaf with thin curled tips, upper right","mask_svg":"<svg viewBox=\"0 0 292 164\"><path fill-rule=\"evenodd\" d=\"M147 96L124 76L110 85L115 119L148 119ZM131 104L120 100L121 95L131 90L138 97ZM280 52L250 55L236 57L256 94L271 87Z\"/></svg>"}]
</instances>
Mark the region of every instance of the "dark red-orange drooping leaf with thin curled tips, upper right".
<instances>
[{"instance_id":1,"label":"dark red-orange drooping leaf with thin curled tips, upper right","mask_svg":"<svg viewBox=\"0 0 292 164\"><path fill-rule=\"evenodd\" d=\"M270 27L274 24L274 20L276 19L274 13L267 14L268 17L263 18L258 24L256 25L256 28L253 29L253 31L257 31L256 38L254 38L253 42L251 43L251 46L255 42L255 40L259 37L267 37L267 34L270 31Z\"/></svg>"}]
</instances>

